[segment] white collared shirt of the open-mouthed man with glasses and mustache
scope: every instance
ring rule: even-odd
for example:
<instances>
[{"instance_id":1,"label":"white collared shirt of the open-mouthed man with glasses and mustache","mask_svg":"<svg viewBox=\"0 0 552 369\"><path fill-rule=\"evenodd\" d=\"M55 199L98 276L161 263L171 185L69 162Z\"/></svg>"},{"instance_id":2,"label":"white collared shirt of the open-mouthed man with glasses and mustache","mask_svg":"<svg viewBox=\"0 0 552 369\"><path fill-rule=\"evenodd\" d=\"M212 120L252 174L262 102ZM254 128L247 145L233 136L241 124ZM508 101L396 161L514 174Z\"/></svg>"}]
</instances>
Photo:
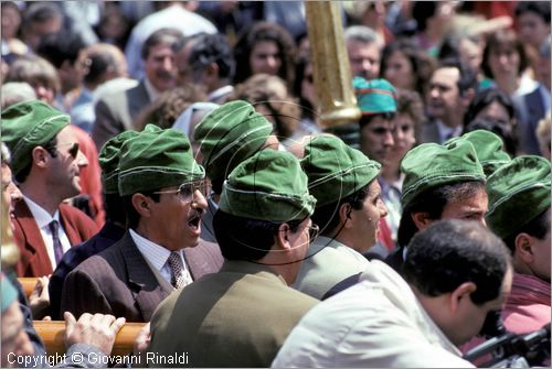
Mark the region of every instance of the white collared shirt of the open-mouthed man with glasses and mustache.
<instances>
[{"instance_id":1,"label":"white collared shirt of the open-mouthed man with glasses and mustache","mask_svg":"<svg viewBox=\"0 0 552 369\"><path fill-rule=\"evenodd\" d=\"M132 241L136 243L136 247L140 251L140 253L146 258L146 260L153 265L153 268L159 272L159 274L166 280L169 284L171 283L171 269L167 262L169 256L172 251L163 248L162 246L157 245L148 240L147 238L138 235L134 229L129 229L130 237ZM185 263L185 258L182 250L176 251L180 258L182 259L182 273L184 274L185 281L193 281L188 265Z\"/></svg>"}]
</instances>

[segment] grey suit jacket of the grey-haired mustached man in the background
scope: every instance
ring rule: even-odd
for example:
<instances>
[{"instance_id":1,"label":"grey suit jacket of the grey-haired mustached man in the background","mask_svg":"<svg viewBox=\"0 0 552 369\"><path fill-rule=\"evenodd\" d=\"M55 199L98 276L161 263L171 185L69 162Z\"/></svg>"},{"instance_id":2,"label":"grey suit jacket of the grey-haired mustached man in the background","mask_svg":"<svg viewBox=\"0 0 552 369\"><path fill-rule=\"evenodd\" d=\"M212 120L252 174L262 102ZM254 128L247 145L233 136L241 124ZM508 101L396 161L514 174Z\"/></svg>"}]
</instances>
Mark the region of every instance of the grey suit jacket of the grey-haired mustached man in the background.
<instances>
[{"instance_id":1,"label":"grey suit jacket of the grey-haired mustached man in the background","mask_svg":"<svg viewBox=\"0 0 552 369\"><path fill-rule=\"evenodd\" d=\"M94 107L96 120L92 128L92 139L98 151L110 138L132 129L136 117L150 102L144 79L136 87L99 99Z\"/></svg>"}]
</instances>

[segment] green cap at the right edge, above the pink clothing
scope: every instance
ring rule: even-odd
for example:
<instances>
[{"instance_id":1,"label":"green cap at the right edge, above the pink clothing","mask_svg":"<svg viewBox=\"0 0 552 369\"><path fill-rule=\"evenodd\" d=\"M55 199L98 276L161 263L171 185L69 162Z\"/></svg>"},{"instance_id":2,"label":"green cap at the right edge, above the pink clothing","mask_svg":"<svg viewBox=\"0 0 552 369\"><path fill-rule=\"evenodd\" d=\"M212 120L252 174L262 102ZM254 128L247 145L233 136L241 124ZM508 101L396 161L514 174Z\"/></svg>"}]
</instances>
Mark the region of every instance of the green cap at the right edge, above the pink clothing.
<instances>
[{"instance_id":1,"label":"green cap at the right edge, above the pink clothing","mask_svg":"<svg viewBox=\"0 0 552 369\"><path fill-rule=\"evenodd\" d=\"M550 162L524 155L498 169L487 181L489 228L505 239L550 208Z\"/></svg>"}]
</instances>

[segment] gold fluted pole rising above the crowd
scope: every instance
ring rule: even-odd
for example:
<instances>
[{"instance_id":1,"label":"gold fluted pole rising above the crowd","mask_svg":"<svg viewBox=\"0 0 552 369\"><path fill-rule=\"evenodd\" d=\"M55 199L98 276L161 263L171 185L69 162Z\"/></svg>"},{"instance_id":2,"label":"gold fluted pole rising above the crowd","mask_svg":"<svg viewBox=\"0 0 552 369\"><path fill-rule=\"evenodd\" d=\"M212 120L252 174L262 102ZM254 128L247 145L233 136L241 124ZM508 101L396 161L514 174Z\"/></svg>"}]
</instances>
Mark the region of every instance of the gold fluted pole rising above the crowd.
<instances>
[{"instance_id":1,"label":"gold fluted pole rising above the crowd","mask_svg":"<svg viewBox=\"0 0 552 369\"><path fill-rule=\"evenodd\" d=\"M361 112L352 89L339 1L305 1L320 127L355 122Z\"/></svg>"}]
</instances>

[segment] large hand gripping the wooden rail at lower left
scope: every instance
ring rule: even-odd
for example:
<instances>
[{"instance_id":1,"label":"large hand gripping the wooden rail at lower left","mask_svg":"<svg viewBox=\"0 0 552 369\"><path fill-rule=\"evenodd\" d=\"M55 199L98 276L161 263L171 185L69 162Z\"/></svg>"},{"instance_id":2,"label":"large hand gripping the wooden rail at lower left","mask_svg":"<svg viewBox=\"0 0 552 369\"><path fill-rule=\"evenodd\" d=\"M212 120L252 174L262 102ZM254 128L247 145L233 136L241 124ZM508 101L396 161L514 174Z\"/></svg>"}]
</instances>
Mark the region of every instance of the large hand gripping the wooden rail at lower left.
<instances>
[{"instance_id":1,"label":"large hand gripping the wooden rail at lower left","mask_svg":"<svg viewBox=\"0 0 552 369\"><path fill-rule=\"evenodd\" d=\"M84 313L75 319L73 314L65 312L65 347L74 344L88 344L99 348L104 354L112 354L115 337L125 325L125 318L113 315Z\"/></svg>"}]
</instances>

